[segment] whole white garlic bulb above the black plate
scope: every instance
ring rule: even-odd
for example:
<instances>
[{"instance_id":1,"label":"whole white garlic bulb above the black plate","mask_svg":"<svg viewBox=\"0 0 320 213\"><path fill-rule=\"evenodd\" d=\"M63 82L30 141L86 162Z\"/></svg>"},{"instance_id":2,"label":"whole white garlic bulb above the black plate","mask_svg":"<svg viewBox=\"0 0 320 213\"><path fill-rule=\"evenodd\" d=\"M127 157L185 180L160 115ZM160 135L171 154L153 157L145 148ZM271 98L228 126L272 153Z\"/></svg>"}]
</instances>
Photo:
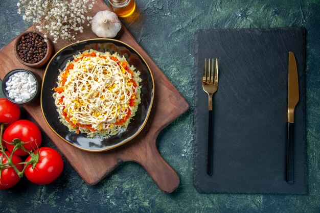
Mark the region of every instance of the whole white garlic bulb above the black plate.
<instances>
[{"instance_id":1,"label":"whole white garlic bulb above the black plate","mask_svg":"<svg viewBox=\"0 0 320 213\"><path fill-rule=\"evenodd\" d=\"M102 38L113 38L121 29L121 22L116 13L108 10L99 11L92 19L92 31Z\"/></svg>"}]
</instances>

